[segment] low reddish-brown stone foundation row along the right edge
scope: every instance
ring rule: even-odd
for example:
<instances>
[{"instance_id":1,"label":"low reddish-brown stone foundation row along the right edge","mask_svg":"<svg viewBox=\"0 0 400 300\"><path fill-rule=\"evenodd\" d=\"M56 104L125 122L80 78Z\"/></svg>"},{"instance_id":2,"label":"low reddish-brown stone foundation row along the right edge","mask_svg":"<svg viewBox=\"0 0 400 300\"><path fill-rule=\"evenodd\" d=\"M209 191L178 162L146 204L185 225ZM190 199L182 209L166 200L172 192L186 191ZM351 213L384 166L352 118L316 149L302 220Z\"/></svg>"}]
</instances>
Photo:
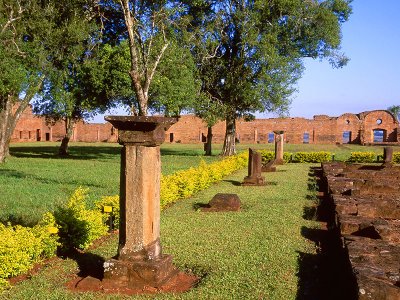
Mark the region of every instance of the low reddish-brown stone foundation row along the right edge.
<instances>
[{"instance_id":1,"label":"low reddish-brown stone foundation row along the right edge","mask_svg":"<svg viewBox=\"0 0 400 300\"><path fill-rule=\"evenodd\" d=\"M359 299L400 299L400 168L323 163Z\"/></svg>"}]
</instances>

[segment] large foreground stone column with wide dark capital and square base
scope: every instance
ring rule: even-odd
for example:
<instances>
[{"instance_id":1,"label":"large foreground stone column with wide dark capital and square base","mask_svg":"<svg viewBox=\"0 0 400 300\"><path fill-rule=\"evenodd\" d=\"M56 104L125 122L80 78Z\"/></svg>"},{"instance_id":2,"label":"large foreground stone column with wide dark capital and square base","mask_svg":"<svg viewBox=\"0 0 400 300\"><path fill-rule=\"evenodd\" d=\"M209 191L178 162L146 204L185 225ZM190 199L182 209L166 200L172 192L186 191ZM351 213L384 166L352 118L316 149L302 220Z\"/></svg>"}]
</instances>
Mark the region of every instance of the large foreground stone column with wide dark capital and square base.
<instances>
[{"instance_id":1,"label":"large foreground stone column with wide dark capital and square base","mask_svg":"<svg viewBox=\"0 0 400 300\"><path fill-rule=\"evenodd\" d=\"M118 129L121 153L119 246L104 263L105 289L159 287L176 269L160 243L160 145L178 121L164 117L107 116Z\"/></svg>"}]
</instances>

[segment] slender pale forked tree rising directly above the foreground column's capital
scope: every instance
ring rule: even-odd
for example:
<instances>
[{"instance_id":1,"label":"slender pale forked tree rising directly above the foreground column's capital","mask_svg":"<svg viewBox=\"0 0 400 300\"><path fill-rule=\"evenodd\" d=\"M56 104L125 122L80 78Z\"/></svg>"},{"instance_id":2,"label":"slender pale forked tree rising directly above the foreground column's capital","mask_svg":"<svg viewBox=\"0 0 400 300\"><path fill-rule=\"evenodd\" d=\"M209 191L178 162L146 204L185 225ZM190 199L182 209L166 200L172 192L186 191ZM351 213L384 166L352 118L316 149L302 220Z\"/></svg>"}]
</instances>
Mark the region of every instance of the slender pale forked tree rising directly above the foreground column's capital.
<instances>
[{"instance_id":1,"label":"slender pale forked tree rising directly above the foreground column's capital","mask_svg":"<svg viewBox=\"0 0 400 300\"><path fill-rule=\"evenodd\" d=\"M180 1L119 0L111 6L122 12L130 51L129 75L137 101L137 115L147 115L149 92L165 52L183 26ZM110 5L108 5L110 7Z\"/></svg>"}]
</instances>

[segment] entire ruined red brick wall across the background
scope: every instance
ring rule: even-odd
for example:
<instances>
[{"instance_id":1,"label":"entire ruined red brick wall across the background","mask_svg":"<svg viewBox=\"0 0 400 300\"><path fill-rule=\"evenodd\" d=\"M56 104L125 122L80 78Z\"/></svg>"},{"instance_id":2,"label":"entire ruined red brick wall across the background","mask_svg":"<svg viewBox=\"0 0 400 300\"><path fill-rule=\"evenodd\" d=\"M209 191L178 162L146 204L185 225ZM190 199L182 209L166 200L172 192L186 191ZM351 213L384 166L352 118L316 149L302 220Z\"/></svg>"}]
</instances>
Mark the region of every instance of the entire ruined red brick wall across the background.
<instances>
[{"instance_id":1,"label":"entire ruined red brick wall across the background","mask_svg":"<svg viewBox=\"0 0 400 300\"><path fill-rule=\"evenodd\" d=\"M339 117L326 115L305 118L270 118L245 122L237 120L236 137L242 143L272 143L275 130L283 130L284 140L291 144L373 144L374 132L381 134L379 143L398 143L399 124L394 116L385 110L360 114L346 113ZM29 107L17 123L12 142L60 141L65 134L65 125L59 121L48 124L44 117L33 115ZM207 127L193 115L182 116L166 136L167 143L201 143L206 141ZM213 143L223 143L225 123L213 126ZM116 142L117 132L111 124L89 124L77 122L72 141Z\"/></svg>"}]
</instances>

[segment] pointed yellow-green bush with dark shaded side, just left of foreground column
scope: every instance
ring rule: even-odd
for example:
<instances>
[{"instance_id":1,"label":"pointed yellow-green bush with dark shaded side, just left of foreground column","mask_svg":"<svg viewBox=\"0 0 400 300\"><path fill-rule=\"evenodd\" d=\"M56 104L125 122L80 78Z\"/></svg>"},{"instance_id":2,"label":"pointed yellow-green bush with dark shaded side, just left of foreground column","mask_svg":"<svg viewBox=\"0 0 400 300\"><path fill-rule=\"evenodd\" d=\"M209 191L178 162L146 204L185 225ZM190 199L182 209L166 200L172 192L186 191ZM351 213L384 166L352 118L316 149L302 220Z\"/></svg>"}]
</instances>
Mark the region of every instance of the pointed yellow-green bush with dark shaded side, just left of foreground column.
<instances>
[{"instance_id":1,"label":"pointed yellow-green bush with dark shaded side, just left of foreground column","mask_svg":"<svg viewBox=\"0 0 400 300\"><path fill-rule=\"evenodd\" d=\"M61 247L87 249L94 240L107 233L105 217L99 210L86 206L87 189L78 188L68 203L55 212L60 227Z\"/></svg>"}]
</instances>

